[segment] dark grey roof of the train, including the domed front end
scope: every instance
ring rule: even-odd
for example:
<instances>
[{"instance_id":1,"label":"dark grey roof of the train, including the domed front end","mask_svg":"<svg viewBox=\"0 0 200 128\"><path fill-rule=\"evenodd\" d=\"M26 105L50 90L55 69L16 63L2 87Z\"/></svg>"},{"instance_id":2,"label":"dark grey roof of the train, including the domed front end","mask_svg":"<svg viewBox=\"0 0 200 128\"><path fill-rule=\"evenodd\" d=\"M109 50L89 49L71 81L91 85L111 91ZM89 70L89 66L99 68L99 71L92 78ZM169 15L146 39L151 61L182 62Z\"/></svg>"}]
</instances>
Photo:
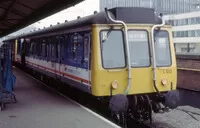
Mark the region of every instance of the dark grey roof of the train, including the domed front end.
<instances>
[{"instance_id":1,"label":"dark grey roof of the train, including the domed front end","mask_svg":"<svg viewBox=\"0 0 200 128\"><path fill-rule=\"evenodd\" d=\"M116 7L108 10L111 17L115 20L122 20L127 24L160 24L161 19L155 15L155 11L152 8L143 7ZM77 18L69 22L44 28L38 31L30 32L27 34L12 37L9 40L23 37L31 37L34 35L44 34L46 32L61 31L63 29L78 28L82 26L89 26L92 24L112 24L108 19L105 11L94 13L93 15L86 16L83 18Z\"/></svg>"}]
</instances>

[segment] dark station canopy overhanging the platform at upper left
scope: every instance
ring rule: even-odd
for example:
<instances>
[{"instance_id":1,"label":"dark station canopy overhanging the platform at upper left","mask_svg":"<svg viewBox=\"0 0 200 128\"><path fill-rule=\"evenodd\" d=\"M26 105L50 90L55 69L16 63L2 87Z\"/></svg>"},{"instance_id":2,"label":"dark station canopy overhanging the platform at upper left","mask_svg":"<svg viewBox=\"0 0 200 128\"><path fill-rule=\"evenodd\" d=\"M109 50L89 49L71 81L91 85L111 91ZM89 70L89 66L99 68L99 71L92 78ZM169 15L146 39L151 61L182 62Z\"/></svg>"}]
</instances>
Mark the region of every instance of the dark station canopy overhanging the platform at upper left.
<instances>
[{"instance_id":1,"label":"dark station canopy overhanging the platform at upper left","mask_svg":"<svg viewBox=\"0 0 200 128\"><path fill-rule=\"evenodd\" d=\"M0 37L83 0L0 0Z\"/></svg>"}]
</instances>

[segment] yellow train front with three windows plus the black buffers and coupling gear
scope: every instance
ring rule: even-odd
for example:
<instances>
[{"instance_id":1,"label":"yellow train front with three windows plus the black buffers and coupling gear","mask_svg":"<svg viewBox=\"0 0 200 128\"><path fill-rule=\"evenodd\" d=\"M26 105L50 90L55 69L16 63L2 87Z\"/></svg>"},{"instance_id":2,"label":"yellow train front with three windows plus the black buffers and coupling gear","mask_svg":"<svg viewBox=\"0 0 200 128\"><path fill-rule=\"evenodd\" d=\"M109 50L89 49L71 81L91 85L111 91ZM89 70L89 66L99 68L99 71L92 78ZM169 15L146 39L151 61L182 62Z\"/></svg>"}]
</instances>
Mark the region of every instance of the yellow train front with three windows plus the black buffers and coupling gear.
<instances>
[{"instance_id":1,"label":"yellow train front with three windows plus the black buffers and coupling gear","mask_svg":"<svg viewBox=\"0 0 200 128\"><path fill-rule=\"evenodd\" d=\"M166 25L154 31L156 80L152 65L153 25L129 24L127 27L130 82L122 27L93 25L92 94L109 97L113 115L131 111L134 118L142 117L142 120L150 119L152 122L152 111L163 112L166 107L178 105L174 93L177 70L171 27Z\"/></svg>"}]
</instances>

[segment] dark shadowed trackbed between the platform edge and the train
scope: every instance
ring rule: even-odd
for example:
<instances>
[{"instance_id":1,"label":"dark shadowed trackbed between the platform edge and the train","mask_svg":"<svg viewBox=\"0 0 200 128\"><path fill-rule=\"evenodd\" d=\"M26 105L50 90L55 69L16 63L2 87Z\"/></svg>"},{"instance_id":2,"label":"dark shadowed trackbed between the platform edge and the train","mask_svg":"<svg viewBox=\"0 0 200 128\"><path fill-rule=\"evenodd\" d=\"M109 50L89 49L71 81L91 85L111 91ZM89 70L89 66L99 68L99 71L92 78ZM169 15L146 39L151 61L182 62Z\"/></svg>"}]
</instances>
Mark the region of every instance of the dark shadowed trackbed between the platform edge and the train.
<instances>
[{"instance_id":1,"label":"dark shadowed trackbed between the platform edge and the train","mask_svg":"<svg viewBox=\"0 0 200 128\"><path fill-rule=\"evenodd\" d=\"M15 65L20 70L24 71L24 68ZM32 74L28 71L26 72L30 77L37 80L38 82L42 83L48 89L52 90L53 92L58 93L59 95L72 100L73 102L84 106L89 111L97 113L98 115L106 118L107 120L111 121L112 123L116 124L117 126L123 128L122 124L119 124L115 119L111 117L111 114L108 110L108 102L97 100L95 97L92 97L88 93L82 92L76 88L67 86L65 83L55 82L55 81L47 81L45 79L41 80L39 75ZM139 123L132 119L127 119L127 126L125 128L153 128L153 125L149 123Z\"/></svg>"}]
</instances>

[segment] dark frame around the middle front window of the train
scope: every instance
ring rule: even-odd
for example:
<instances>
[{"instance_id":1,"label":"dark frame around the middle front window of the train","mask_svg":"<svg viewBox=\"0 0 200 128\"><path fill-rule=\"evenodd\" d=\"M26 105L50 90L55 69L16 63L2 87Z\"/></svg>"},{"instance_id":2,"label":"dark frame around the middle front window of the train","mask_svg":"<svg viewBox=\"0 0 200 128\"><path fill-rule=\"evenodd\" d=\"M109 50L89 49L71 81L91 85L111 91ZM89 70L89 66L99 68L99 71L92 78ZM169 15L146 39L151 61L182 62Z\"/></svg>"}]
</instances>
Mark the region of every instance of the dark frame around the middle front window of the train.
<instances>
[{"instance_id":1,"label":"dark frame around the middle front window of the train","mask_svg":"<svg viewBox=\"0 0 200 128\"><path fill-rule=\"evenodd\" d=\"M147 40L148 40L147 44L148 44L148 49L149 49L149 65L148 66L135 66L135 67L131 65L131 68L147 68L147 67L151 67L152 62L151 62L151 49L150 49L150 39L149 39L150 34L149 34L149 31L147 29L128 29L128 31L145 31L147 33Z\"/></svg>"}]
</instances>

